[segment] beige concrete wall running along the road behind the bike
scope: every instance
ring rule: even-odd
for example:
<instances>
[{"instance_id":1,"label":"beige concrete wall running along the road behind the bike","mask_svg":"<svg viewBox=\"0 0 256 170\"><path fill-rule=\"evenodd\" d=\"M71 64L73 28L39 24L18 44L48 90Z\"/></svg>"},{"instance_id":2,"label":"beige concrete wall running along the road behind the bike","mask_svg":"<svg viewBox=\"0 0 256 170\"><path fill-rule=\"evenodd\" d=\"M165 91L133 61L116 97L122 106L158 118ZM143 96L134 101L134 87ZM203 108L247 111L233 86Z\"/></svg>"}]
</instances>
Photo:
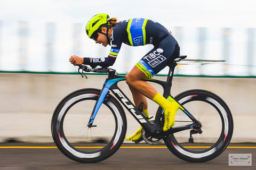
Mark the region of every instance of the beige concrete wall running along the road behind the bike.
<instances>
[{"instance_id":1,"label":"beige concrete wall running along the road behind the bike","mask_svg":"<svg viewBox=\"0 0 256 170\"><path fill-rule=\"evenodd\" d=\"M22 142L53 142L51 118L60 100L77 89L101 89L106 75L20 74L0 73L0 142L18 139ZM155 77L165 80L165 77ZM256 79L174 77L171 94L189 89L206 89L226 101L234 119L231 142L256 142L255 116ZM121 87L131 98L125 82ZM159 86L156 86L162 92ZM151 106L151 105L150 105ZM152 105L151 107L156 107ZM151 108L149 108L151 109ZM127 112L126 112L127 113ZM154 113L149 111L153 116ZM127 113L127 133L139 124ZM214 121L209 118L209 121Z\"/></svg>"}]
</instances>

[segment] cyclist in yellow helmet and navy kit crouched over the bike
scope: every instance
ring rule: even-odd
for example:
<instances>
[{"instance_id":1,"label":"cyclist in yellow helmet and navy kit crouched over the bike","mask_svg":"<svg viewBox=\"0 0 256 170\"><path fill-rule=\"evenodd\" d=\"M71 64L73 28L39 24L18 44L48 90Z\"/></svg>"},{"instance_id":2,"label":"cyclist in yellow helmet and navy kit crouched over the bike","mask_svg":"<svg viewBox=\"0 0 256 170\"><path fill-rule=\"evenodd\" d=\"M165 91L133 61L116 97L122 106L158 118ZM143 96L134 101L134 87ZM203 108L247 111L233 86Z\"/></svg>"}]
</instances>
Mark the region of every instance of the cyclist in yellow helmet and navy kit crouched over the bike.
<instances>
[{"instance_id":1,"label":"cyclist in yellow helmet and navy kit crouched over the bike","mask_svg":"<svg viewBox=\"0 0 256 170\"><path fill-rule=\"evenodd\" d=\"M142 111L148 115L147 98L155 101L164 110L163 131L169 130L174 124L174 116L178 110L178 104L165 99L149 83L142 81L152 78L164 69L168 62L179 56L180 47L163 25L149 19L134 18L117 22L116 18L109 18L108 14L100 13L94 15L86 25L86 33L95 43L103 46L110 45L108 57L90 58L71 56L69 61L73 65L111 66L114 64L122 43L130 46L154 45L141 60L133 67L126 76L134 104L139 107L143 103ZM145 97L146 96L146 97ZM142 126L126 140L136 141L141 138Z\"/></svg>"}]
</instances>

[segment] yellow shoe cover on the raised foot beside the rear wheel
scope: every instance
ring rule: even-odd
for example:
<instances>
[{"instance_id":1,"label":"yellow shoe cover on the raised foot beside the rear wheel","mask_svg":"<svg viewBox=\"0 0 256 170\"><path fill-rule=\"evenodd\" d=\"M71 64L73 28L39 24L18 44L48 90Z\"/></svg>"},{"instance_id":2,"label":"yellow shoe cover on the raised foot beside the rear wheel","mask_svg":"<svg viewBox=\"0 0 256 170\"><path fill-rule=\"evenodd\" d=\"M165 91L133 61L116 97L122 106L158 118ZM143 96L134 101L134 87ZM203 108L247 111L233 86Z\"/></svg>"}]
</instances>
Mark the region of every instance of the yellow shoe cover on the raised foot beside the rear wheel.
<instances>
[{"instance_id":1,"label":"yellow shoe cover on the raised foot beside the rear wheel","mask_svg":"<svg viewBox=\"0 0 256 170\"><path fill-rule=\"evenodd\" d=\"M179 104L171 102L171 107L164 111L164 126L163 131L167 131L174 125L174 117L179 109Z\"/></svg>"}]
</instances>

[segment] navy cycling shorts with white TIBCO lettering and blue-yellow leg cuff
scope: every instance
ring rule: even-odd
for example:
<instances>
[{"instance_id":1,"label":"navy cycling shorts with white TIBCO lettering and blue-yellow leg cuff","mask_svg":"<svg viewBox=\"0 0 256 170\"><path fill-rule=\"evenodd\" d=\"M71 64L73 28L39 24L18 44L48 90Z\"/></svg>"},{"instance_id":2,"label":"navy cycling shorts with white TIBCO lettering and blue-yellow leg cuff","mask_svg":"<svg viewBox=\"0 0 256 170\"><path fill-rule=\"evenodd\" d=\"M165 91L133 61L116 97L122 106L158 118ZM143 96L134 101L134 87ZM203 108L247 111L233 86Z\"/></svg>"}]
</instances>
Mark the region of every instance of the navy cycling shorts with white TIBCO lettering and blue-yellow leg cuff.
<instances>
[{"instance_id":1,"label":"navy cycling shorts with white TIBCO lettering and blue-yellow leg cuff","mask_svg":"<svg viewBox=\"0 0 256 170\"><path fill-rule=\"evenodd\" d=\"M151 79L179 55L180 47L175 38L169 35L143 56L136 66Z\"/></svg>"}]
</instances>

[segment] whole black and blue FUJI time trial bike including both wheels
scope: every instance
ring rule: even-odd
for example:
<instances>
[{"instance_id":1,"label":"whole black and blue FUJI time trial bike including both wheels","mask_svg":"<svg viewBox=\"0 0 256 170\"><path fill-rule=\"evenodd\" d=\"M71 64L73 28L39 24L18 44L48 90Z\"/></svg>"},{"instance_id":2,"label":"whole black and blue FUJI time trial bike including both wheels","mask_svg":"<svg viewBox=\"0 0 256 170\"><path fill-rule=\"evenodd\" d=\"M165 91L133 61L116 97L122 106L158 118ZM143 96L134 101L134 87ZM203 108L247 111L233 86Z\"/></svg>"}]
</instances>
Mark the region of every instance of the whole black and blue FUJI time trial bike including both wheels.
<instances>
[{"instance_id":1,"label":"whole black and blue FUJI time trial bike including both wheels","mask_svg":"<svg viewBox=\"0 0 256 170\"><path fill-rule=\"evenodd\" d=\"M51 130L59 150L81 163L100 162L113 155L121 147L127 129L123 105L143 127L142 140L146 143L158 145L164 141L175 156L188 162L206 162L220 155L233 134L233 118L227 104L213 92L201 89L171 96L174 68L184 58L179 56L167 65L166 81L144 80L161 85L163 96L179 104L175 124L166 132L162 130L161 107L152 120L143 114L142 103L136 108L118 87L118 82L126 80L124 75L109 67L92 69L80 65L78 71L82 70L83 74L84 71L107 73L108 78L102 89L74 91L55 108Z\"/></svg>"}]
</instances>

